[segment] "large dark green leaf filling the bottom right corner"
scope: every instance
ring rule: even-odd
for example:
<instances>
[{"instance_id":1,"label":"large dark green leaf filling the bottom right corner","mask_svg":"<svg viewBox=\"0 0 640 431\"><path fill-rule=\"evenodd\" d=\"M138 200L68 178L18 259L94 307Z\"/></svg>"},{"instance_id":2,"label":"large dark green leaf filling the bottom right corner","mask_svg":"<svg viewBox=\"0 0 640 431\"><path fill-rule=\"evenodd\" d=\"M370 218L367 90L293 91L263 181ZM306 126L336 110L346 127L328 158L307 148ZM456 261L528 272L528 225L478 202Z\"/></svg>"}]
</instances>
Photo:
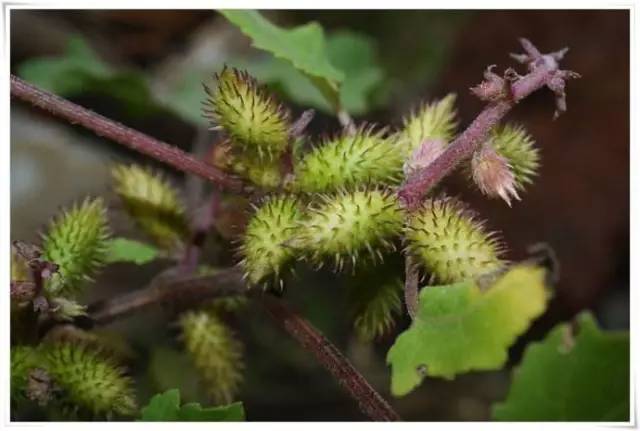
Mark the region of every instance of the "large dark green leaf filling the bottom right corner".
<instances>
[{"instance_id":1,"label":"large dark green leaf filling the bottom right corner","mask_svg":"<svg viewBox=\"0 0 640 431\"><path fill-rule=\"evenodd\" d=\"M504 402L503 421L628 421L629 333L602 331L590 313L527 346Z\"/></svg>"}]
</instances>

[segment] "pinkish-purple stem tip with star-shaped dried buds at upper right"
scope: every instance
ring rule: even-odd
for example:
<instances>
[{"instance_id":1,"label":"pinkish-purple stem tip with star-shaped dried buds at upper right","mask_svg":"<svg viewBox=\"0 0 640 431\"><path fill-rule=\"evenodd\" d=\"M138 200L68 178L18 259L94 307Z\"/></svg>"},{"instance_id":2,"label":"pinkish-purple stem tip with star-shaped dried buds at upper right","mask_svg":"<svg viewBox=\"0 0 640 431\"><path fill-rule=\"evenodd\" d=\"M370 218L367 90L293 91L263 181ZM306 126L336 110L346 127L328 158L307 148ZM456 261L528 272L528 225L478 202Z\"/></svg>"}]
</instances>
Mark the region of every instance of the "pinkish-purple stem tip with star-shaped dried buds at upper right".
<instances>
[{"instance_id":1,"label":"pinkish-purple stem tip with star-shaped dried buds at upper right","mask_svg":"<svg viewBox=\"0 0 640 431\"><path fill-rule=\"evenodd\" d=\"M402 185L398 196L409 210L416 209L424 196L440 180L471 157L507 112L534 91L548 87L556 94L554 118L566 110L565 81L579 77L575 72L559 68L558 62L567 50L543 55L528 40L520 39L520 43L526 54L512 56L528 64L529 74L519 76L512 69L508 69L505 76L500 77L491 71L493 66L487 68L485 81L472 88L471 92L489 104L437 159L430 165L416 170Z\"/></svg>"}]
</instances>

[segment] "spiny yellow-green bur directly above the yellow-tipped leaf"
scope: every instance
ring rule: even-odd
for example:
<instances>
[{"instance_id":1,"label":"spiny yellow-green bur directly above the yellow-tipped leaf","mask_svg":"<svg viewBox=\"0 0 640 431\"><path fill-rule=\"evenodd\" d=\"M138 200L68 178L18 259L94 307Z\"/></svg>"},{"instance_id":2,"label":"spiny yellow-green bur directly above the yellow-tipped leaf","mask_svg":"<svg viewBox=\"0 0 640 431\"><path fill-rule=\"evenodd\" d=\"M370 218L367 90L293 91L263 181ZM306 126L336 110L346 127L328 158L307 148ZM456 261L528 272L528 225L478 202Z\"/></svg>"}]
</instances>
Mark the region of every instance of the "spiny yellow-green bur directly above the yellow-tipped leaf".
<instances>
[{"instance_id":1,"label":"spiny yellow-green bur directly above the yellow-tipped leaf","mask_svg":"<svg viewBox=\"0 0 640 431\"><path fill-rule=\"evenodd\" d=\"M464 205L428 199L406 226L407 247L440 283L474 279L503 267L502 245Z\"/></svg>"}]
</instances>

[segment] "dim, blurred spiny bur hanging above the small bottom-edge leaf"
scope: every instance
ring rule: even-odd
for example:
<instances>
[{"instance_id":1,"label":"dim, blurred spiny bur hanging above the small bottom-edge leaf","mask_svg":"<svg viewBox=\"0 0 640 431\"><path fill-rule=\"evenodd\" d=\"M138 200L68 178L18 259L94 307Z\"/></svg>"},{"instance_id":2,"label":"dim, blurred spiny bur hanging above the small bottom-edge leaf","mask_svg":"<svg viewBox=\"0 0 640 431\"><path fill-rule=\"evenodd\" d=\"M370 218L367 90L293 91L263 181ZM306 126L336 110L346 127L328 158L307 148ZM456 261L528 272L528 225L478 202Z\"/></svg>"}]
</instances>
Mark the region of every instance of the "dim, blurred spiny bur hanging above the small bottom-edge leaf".
<instances>
[{"instance_id":1,"label":"dim, blurred spiny bur hanging above the small bottom-edge leaf","mask_svg":"<svg viewBox=\"0 0 640 431\"><path fill-rule=\"evenodd\" d=\"M233 401L242 382L242 345L214 314L189 311L180 317L185 347L218 404Z\"/></svg>"}]
</instances>

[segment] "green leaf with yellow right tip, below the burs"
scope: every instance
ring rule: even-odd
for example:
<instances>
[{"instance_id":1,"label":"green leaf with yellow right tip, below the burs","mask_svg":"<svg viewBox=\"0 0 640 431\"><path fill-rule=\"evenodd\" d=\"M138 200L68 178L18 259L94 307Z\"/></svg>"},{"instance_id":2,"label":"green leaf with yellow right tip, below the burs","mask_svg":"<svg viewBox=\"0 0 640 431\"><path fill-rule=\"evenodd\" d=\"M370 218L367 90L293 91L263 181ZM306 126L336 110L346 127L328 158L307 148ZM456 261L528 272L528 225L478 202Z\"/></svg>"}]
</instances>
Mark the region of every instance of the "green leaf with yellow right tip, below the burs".
<instances>
[{"instance_id":1,"label":"green leaf with yellow right tip, below the burs","mask_svg":"<svg viewBox=\"0 0 640 431\"><path fill-rule=\"evenodd\" d=\"M473 281L423 288L415 320L387 354L391 392L406 395L425 376L502 367L508 347L546 308L544 278L543 268L518 265L487 290Z\"/></svg>"}]
</instances>

